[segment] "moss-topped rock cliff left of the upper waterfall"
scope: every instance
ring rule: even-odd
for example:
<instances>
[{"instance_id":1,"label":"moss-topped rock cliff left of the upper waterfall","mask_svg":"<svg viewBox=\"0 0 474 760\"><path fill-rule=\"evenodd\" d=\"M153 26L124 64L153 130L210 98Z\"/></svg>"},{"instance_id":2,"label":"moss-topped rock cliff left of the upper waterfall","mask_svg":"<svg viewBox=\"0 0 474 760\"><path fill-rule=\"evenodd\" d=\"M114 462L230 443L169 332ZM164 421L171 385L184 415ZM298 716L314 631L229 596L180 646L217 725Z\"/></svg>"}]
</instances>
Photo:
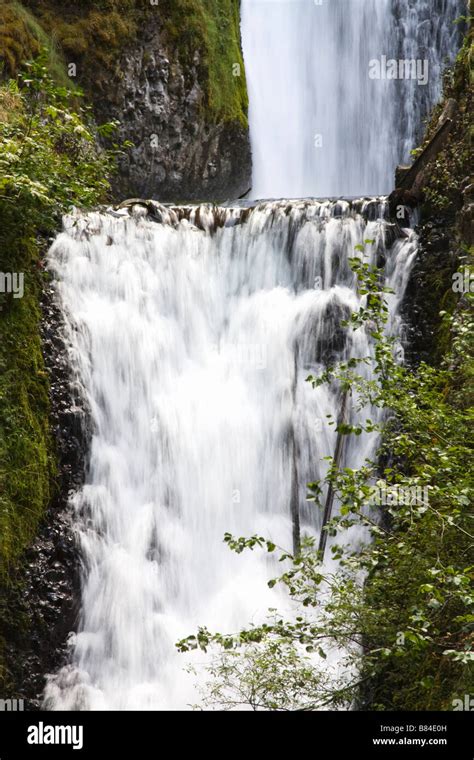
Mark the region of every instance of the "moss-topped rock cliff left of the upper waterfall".
<instances>
[{"instance_id":1,"label":"moss-topped rock cliff left of the upper waterfall","mask_svg":"<svg viewBox=\"0 0 474 760\"><path fill-rule=\"evenodd\" d=\"M45 48L98 122L120 122L134 147L116 200L224 201L250 188L239 0L5 0L0 48L10 76Z\"/></svg>"}]
</instances>

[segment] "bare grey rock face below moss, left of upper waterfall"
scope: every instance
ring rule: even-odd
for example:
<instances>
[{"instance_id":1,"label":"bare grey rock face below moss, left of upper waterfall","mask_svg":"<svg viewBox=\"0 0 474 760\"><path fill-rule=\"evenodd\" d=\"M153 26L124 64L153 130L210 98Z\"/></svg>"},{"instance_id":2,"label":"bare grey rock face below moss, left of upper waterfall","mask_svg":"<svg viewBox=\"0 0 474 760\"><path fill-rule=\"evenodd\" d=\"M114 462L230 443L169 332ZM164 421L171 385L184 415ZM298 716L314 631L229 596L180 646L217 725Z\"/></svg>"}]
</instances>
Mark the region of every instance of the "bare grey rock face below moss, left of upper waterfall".
<instances>
[{"instance_id":1,"label":"bare grey rock face below moss, left of upper waterfall","mask_svg":"<svg viewBox=\"0 0 474 760\"><path fill-rule=\"evenodd\" d=\"M120 163L117 197L223 201L250 188L247 126L207 119L200 58L196 50L183 65L159 25L122 55L118 86L96 104L101 119L121 122L121 140L134 143Z\"/></svg>"}]
</instances>

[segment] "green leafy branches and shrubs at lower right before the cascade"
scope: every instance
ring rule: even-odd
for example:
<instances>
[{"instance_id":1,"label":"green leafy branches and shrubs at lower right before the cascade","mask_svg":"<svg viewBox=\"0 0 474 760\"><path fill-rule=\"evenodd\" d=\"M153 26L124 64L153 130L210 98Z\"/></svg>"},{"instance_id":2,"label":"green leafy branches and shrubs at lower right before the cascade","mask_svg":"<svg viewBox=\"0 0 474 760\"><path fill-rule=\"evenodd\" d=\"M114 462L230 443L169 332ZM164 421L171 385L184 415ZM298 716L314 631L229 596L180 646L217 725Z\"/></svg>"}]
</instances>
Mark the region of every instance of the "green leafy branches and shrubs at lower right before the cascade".
<instances>
[{"instance_id":1,"label":"green leafy branches and shrubs at lower right before the cascade","mask_svg":"<svg viewBox=\"0 0 474 760\"><path fill-rule=\"evenodd\" d=\"M232 695L248 696L252 684L257 706L264 709L353 702L374 710L442 710L452 709L452 701L474 687L473 410L450 392L459 367L472 367L473 312L466 308L454 317L445 315L453 336L446 367L422 365L413 373L399 365L384 331L381 273L358 258L352 268L365 302L348 326L369 327L373 357L352 359L308 381L337 381L361 409L383 410L377 425L367 420L357 429L341 430L345 435L357 435L360 427L378 430L381 443L376 461L358 470L339 470L331 459L324 481L309 485L309 498L321 508L321 495L331 484L340 506L327 530L338 541L349 529L363 528L367 540L356 549L344 540L333 544L333 571L322 564L313 539L306 539L296 556L278 550L284 570L269 585L286 588L296 605L294 619L273 612L269 622L237 634L201 628L178 643L180 651L220 650L208 668L207 704L220 701L231 709ZM465 298L472 306L472 296ZM358 374L361 362L373 365L375 381ZM374 483L387 494L386 506L371 498ZM420 488L428 499L399 498ZM237 552L263 547L273 554L277 549L261 536L226 535L225 541ZM316 660L335 650L345 676L328 681L326 666ZM275 651L281 655L273 664L277 690L268 696L265 684ZM291 679L287 690L278 687L287 655L301 675L300 691L291 687ZM247 699L247 704L255 709L255 701Z\"/></svg>"}]
</instances>

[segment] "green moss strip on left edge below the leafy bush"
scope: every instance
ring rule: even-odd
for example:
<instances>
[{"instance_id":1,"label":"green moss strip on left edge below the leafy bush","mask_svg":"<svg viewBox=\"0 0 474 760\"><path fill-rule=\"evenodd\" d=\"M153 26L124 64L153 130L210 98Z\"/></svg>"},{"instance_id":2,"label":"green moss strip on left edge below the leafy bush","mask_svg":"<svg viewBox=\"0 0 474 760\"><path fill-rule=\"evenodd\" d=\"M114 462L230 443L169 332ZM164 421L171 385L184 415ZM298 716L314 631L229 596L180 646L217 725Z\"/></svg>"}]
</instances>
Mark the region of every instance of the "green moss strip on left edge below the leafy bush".
<instances>
[{"instance_id":1,"label":"green moss strip on left edge below the leafy bush","mask_svg":"<svg viewBox=\"0 0 474 760\"><path fill-rule=\"evenodd\" d=\"M36 246L15 251L25 274L24 297L2 295L0 312L0 583L34 538L51 497L55 472L49 425L48 378L39 335ZM12 271L11 257L0 260Z\"/></svg>"}]
</instances>

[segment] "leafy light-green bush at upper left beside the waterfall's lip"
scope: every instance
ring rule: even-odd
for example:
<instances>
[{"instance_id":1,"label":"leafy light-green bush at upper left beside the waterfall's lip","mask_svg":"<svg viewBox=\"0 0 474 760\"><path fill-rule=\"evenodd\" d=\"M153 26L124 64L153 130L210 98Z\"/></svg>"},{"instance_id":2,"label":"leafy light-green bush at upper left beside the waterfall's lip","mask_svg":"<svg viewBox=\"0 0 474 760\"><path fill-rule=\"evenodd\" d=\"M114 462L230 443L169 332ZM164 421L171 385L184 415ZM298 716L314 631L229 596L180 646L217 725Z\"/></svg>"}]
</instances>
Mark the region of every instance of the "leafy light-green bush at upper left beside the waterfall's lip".
<instances>
[{"instance_id":1,"label":"leafy light-green bush at upper left beside the waterfall's lip","mask_svg":"<svg viewBox=\"0 0 474 760\"><path fill-rule=\"evenodd\" d=\"M97 150L87 110L70 107L80 93L55 85L41 58L26 68L19 84L10 80L0 89L6 115L0 124L0 234L7 244L18 230L27 236L50 230L72 205L103 198L112 168L110 153Z\"/></svg>"}]
</instances>

